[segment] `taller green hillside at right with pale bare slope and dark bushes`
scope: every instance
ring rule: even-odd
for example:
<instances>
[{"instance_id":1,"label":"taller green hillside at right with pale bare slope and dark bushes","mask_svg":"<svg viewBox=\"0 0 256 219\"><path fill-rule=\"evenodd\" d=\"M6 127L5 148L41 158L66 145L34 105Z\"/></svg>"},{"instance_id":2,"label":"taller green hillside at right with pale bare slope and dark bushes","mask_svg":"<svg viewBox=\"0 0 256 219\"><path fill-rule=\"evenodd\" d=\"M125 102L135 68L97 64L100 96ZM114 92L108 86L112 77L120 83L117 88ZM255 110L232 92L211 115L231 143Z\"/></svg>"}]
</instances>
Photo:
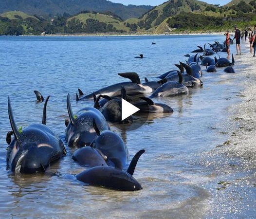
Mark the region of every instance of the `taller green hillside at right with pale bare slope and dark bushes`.
<instances>
[{"instance_id":1,"label":"taller green hillside at right with pale bare slope and dark bushes","mask_svg":"<svg viewBox=\"0 0 256 219\"><path fill-rule=\"evenodd\" d=\"M197 0L169 0L147 12L137 24L140 33L216 32L251 25L255 12L256 0L233 0L223 7Z\"/></svg>"}]
</instances>

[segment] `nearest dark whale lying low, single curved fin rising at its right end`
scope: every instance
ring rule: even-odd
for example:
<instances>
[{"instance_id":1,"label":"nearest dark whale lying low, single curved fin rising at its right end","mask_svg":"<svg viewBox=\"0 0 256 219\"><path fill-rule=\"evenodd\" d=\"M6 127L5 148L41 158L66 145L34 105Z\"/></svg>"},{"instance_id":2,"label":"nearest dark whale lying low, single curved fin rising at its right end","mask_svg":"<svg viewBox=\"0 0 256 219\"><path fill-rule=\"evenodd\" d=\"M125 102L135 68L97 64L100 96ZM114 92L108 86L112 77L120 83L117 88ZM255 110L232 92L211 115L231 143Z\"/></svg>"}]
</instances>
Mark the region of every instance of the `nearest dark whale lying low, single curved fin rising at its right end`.
<instances>
[{"instance_id":1,"label":"nearest dark whale lying low, single curved fin rising at its right end","mask_svg":"<svg viewBox=\"0 0 256 219\"><path fill-rule=\"evenodd\" d=\"M135 154L127 171L119 168L118 162L116 162L116 167L95 166L77 174L75 177L77 180L89 185L103 186L121 191L140 190L142 189L141 184L132 175L140 156L144 152L145 150L140 150Z\"/></svg>"}]
</instances>

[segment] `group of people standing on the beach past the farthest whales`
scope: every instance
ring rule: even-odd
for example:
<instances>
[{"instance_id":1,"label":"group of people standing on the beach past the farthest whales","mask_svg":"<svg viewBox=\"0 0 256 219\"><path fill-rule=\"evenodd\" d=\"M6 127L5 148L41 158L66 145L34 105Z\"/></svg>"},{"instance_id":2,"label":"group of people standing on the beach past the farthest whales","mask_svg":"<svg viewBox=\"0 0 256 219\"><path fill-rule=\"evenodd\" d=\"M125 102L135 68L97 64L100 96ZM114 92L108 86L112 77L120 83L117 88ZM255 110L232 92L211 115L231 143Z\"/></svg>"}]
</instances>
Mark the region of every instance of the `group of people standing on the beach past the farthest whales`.
<instances>
[{"instance_id":1,"label":"group of people standing on the beach past the farthest whales","mask_svg":"<svg viewBox=\"0 0 256 219\"><path fill-rule=\"evenodd\" d=\"M248 36L248 40L250 43L250 53L254 54L253 56L256 56L256 25L254 25L254 28L249 27L249 32L247 31L247 29L245 29L244 31L242 31L242 33L240 32L240 30L238 29L237 26L234 27L235 28L235 37L234 39L236 39L236 44L237 44L237 55L238 55L238 50L239 50L239 55L241 55L241 46L240 46L240 39L242 41L247 40L247 36ZM229 31L227 31L226 35L226 48L227 48L227 54L228 56L230 56L230 35L229 35Z\"/></svg>"}]
</instances>

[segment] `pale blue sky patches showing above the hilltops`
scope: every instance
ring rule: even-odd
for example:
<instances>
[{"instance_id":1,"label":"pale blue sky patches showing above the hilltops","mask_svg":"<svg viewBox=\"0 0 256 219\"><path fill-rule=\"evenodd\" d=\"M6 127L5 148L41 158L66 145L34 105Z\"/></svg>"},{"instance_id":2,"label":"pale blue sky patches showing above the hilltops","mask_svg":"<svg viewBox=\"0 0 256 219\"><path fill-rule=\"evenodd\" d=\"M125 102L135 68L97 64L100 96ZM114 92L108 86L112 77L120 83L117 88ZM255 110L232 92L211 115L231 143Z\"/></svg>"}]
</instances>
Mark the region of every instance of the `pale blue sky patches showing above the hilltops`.
<instances>
[{"instance_id":1,"label":"pale blue sky patches showing above the hilltops","mask_svg":"<svg viewBox=\"0 0 256 219\"><path fill-rule=\"evenodd\" d=\"M122 3L125 5L128 4L135 4L135 5L141 5L141 4L145 4L145 5L160 5L163 2L167 1L167 0L110 0L112 2L117 2L117 3ZM224 5L228 2L230 2L231 0L202 0L202 1L206 1L207 3L210 4L220 4L220 5Z\"/></svg>"}]
</instances>

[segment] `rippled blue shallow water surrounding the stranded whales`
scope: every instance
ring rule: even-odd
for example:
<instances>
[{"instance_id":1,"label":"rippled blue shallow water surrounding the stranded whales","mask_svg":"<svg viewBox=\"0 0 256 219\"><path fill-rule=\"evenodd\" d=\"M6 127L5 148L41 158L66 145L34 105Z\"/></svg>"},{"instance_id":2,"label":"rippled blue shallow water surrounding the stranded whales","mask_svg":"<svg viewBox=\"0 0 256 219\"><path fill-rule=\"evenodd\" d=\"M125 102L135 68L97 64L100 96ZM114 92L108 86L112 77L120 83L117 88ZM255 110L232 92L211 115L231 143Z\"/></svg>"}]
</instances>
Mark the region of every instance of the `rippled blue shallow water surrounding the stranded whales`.
<instances>
[{"instance_id":1,"label":"rippled blue shallow water surrounding the stranded whales","mask_svg":"<svg viewBox=\"0 0 256 219\"><path fill-rule=\"evenodd\" d=\"M34 90L45 97L47 125L65 140L68 116L66 96L73 97L73 111L92 106L75 102L81 88L90 93L128 79L120 72L137 72L141 80L175 69L183 55L197 45L223 36L150 37L0 37L0 218L204 218L211 208L211 192L203 186L214 178L205 165L193 163L198 154L223 143L227 136L221 124L227 107L238 102L238 78L203 72L203 87L188 95L156 98L174 113L151 115L139 129L119 130L130 159L140 149L134 177L143 186L137 192L120 192L85 186L74 175L84 167L67 156L45 174L14 175L6 170L5 137L11 129L7 99L12 101L16 123L23 128L40 123L43 104ZM156 45L151 45L155 41ZM234 50L235 46L231 46ZM143 59L133 59L144 54ZM225 57L225 53L220 53ZM203 67L204 69L204 67Z\"/></svg>"}]
</instances>

